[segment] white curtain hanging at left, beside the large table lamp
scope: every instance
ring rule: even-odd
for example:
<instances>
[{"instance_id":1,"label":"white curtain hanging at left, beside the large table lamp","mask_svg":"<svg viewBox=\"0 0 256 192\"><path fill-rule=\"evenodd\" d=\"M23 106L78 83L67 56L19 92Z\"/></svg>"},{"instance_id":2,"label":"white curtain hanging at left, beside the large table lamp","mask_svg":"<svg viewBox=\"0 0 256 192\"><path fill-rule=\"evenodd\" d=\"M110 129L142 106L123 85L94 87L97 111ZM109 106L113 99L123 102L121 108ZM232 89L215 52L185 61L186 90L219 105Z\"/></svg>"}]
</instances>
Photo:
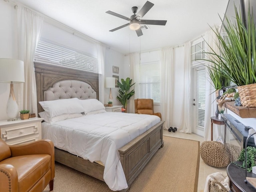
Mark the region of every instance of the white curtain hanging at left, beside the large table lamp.
<instances>
[{"instance_id":1,"label":"white curtain hanging at left, beside the large table lamp","mask_svg":"<svg viewBox=\"0 0 256 192\"><path fill-rule=\"evenodd\" d=\"M18 58L24 61L25 83L18 85L18 105L37 115L34 55L43 24L38 13L18 6Z\"/></svg>"}]
</instances>

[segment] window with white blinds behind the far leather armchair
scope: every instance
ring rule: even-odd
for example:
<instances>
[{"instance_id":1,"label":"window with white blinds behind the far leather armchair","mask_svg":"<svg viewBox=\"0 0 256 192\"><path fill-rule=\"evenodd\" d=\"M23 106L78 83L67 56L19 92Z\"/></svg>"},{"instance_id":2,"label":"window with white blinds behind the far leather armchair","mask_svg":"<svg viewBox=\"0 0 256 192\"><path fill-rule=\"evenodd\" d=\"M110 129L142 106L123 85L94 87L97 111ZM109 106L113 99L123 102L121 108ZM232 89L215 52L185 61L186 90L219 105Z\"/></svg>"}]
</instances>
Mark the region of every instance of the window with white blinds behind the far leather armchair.
<instances>
[{"instance_id":1,"label":"window with white blinds behind the far leather armchair","mask_svg":"<svg viewBox=\"0 0 256 192\"><path fill-rule=\"evenodd\" d=\"M160 64L141 63L139 66L138 98L151 98L160 103Z\"/></svg>"}]
</instances>

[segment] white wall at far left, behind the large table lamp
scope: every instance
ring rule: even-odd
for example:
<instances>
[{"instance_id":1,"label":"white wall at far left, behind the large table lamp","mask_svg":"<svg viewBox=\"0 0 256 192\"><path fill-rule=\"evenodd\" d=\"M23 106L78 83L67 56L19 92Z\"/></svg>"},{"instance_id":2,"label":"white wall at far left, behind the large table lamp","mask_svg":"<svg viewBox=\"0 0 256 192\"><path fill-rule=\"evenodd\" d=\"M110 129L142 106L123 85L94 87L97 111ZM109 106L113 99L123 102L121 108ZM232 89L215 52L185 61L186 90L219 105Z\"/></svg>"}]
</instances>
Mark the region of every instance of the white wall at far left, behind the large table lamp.
<instances>
[{"instance_id":1,"label":"white wall at far left, behind the large table lamp","mask_svg":"<svg viewBox=\"0 0 256 192\"><path fill-rule=\"evenodd\" d=\"M16 18L17 10L14 9L13 4L0 1L0 58L18 59ZM0 120L8 118L6 103L9 93L10 84L0 83Z\"/></svg>"}]
</instances>

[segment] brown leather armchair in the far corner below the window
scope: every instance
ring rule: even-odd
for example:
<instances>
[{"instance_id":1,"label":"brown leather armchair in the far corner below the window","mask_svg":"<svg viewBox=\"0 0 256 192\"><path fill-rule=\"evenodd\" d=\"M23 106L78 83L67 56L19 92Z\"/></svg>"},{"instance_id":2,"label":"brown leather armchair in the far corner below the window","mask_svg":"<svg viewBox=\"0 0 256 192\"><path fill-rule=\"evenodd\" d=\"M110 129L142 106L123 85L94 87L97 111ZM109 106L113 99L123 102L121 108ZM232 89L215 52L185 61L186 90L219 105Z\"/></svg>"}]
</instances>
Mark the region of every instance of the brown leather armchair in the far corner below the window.
<instances>
[{"instance_id":1,"label":"brown leather armchair in the far corner below the window","mask_svg":"<svg viewBox=\"0 0 256 192\"><path fill-rule=\"evenodd\" d=\"M152 99L135 99L135 113L156 115L162 119L161 113L154 113L154 101Z\"/></svg>"}]
</instances>

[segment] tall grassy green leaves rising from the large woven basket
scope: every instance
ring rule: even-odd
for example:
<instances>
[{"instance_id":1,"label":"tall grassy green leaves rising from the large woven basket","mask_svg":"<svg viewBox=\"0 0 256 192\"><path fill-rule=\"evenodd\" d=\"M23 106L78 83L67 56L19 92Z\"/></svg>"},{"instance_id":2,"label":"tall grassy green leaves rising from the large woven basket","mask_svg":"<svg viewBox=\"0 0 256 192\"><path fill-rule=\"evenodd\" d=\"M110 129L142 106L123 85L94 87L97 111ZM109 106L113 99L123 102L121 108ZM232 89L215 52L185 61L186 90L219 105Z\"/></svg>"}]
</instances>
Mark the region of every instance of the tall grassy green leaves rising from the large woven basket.
<instances>
[{"instance_id":1,"label":"tall grassy green leaves rising from the large woven basket","mask_svg":"<svg viewBox=\"0 0 256 192\"><path fill-rule=\"evenodd\" d=\"M250 6L249 6L250 7ZM212 62L216 71L223 71L236 85L248 85L256 83L256 28L250 8L248 10L247 28L242 21L241 13L235 7L236 24L225 17L224 29L227 36L218 32L218 49L220 54L207 52L207 58L203 59ZM207 42L206 42L207 43Z\"/></svg>"}]
</instances>

